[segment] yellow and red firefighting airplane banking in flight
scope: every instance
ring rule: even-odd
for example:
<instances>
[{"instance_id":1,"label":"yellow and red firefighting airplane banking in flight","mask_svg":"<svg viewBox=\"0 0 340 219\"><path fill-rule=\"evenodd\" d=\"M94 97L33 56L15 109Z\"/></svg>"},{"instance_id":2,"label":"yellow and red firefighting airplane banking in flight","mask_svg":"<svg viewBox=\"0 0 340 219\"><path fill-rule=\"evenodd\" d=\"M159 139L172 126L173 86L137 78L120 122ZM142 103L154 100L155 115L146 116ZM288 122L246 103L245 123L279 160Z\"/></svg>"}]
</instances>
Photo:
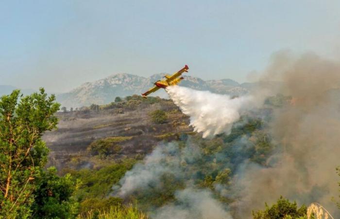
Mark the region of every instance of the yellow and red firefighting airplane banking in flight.
<instances>
[{"instance_id":1,"label":"yellow and red firefighting airplane banking in flight","mask_svg":"<svg viewBox=\"0 0 340 219\"><path fill-rule=\"evenodd\" d=\"M182 79L184 79L184 77L179 77L179 76L181 76L182 73L187 72L188 69L189 69L189 67L187 67L187 65L186 65L186 66L184 66L183 69L179 70L178 72L176 72L172 75L166 74L164 76L166 79L156 81L154 83L155 86L152 89L150 89L149 91L146 91L145 93L142 93L142 97L147 98L146 97L147 95L149 95L150 93L152 93L154 91L157 91L160 88L165 89L168 86L178 84Z\"/></svg>"}]
</instances>

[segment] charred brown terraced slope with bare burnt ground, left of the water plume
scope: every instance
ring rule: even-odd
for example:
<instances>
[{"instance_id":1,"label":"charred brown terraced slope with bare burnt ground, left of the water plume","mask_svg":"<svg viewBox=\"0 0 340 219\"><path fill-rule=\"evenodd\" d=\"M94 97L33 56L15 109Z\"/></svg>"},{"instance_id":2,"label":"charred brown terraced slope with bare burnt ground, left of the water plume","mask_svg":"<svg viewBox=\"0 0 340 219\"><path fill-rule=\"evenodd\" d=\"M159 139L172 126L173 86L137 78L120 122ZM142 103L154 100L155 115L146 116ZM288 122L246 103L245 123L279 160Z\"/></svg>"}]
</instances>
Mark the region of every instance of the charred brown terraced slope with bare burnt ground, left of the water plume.
<instances>
[{"instance_id":1,"label":"charred brown terraced slope with bare burnt ground, left of the water plume","mask_svg":"<svg viewBox=\"0 0 340 219\"><path fill-rule=\"evenodd\" d=\"M100 110L59 112L58 129L44 135L51 149L49 165L59 170L64 167L95 168L122 158L138 159L160 142L192 131L187 116L171 101L161 99L156 103L141 103L133 108L131 104L120 104L119 109L100 107ZM150 118L153 110L164 110L168 115L167 122L154 124ZM102 139L115 142L122 149L105 158L91 156L86 149Z\"/></svg>"}]
</instances>

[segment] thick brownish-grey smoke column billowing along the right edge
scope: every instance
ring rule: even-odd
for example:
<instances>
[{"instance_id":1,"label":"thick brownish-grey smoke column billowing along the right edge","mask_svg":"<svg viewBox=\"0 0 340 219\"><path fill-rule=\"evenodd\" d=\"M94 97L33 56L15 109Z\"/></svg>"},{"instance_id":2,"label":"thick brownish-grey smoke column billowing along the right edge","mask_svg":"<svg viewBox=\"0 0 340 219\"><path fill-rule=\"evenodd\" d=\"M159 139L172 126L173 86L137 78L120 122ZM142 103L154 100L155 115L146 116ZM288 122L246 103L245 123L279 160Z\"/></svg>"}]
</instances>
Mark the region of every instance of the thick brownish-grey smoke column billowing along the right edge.
<instances>
[{"instance_id":1,"label":"thick brownish-grey smoke column billowing along the right edge","mask_svg":"<svg viewBox=\"0 0 340 219\"><path fill-rule=\"evenodd\" d=\"M272 56L262 80L280 80L277 91L292 97L277 110L272 136L282 148L269 168L245 164L238 172L233 203L239 218L263 208L280 195L299 203L320 202L332 213L338 195L335 167L340 155L340 63L314 54L294 57L287 52ZM273 156L273 157L274 157Z\"/></svg>"}]
</instances>

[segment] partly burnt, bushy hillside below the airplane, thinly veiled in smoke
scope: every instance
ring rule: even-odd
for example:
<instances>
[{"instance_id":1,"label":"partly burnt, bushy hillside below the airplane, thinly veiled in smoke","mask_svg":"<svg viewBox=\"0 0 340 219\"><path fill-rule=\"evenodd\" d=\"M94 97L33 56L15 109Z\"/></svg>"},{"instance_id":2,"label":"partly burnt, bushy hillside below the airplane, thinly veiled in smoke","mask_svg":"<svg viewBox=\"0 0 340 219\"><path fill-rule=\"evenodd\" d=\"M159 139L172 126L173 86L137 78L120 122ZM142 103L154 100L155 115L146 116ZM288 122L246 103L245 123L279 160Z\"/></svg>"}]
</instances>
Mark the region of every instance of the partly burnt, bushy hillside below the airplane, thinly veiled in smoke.
<instances>
[{"instance_id":1,"label":"partly burnt, bushy hillside below the airplane, thinly veiled in smoke","mask_svg":"<svg viewBox=\"0 0 340 219\"><path fill-rule=\"evenodd\" d=\"M212 196L225 206L233 203L238 197L231 193L232 178L239 166L246 161L269 165L267 158L276 146L267 122L272 107L287 103L272 97L265 108L242 115L231 134L203 139L172 101L128 96L108 105L59 112L59 129L44 139L52 149L50 164L83 182L75 193L82 215L132 202L162 218L167 216L159 209L178 200L181 190L207 189L211 194L203 198ZM145 164L154 158L156 162ZM129 170L136 182L125 190ZM138 184L140 173L150 179Z\"/></svg>"}]
</instances>

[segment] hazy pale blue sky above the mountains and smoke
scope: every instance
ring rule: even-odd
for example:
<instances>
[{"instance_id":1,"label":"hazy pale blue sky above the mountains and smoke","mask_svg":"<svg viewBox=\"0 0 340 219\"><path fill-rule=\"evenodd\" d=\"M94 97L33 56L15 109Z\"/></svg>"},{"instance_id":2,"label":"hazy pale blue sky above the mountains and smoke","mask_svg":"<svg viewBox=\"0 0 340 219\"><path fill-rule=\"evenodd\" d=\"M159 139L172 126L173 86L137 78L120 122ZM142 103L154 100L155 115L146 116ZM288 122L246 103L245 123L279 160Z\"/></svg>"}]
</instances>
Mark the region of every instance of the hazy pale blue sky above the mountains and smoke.
<instances>
[{"instance_id":1,"label":"hazy pale blue sky above the mountains and smoke","mask_svg":"<svg viewBox=\"0 0 340 219\"><path fill-rule=\"evenodd\" d=\"M68 91L185 64L246 81L280 49L340 55L339 0L0 1L0 84Z\"/></svg>"}]
</instances>

